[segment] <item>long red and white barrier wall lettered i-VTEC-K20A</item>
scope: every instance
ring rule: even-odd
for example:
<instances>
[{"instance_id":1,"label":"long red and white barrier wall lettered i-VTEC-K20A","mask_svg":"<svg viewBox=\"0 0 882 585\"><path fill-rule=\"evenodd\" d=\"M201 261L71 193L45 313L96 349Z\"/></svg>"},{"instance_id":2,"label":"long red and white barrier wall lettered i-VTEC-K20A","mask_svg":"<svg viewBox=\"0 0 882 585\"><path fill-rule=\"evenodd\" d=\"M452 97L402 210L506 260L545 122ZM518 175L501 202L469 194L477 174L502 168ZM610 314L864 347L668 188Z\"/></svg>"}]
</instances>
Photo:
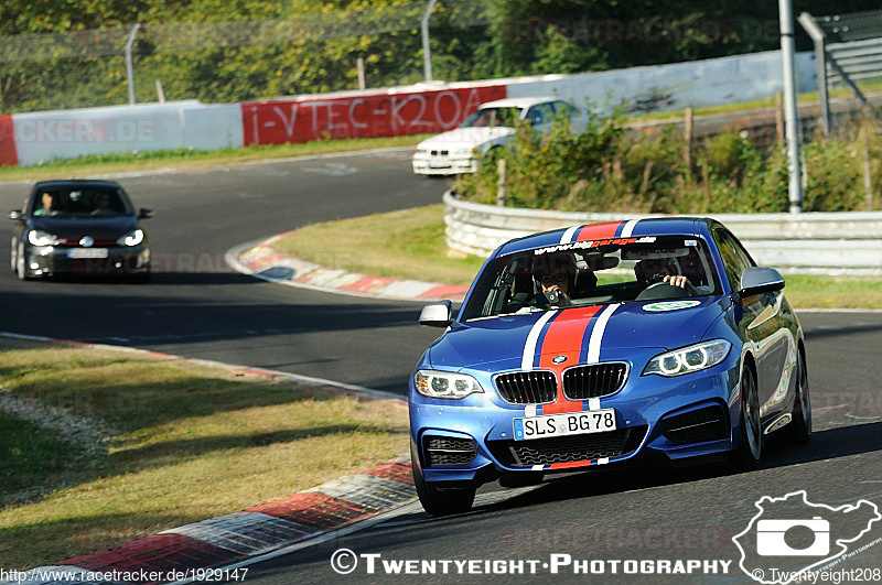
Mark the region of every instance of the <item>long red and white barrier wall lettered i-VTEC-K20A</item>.
<instances>
[{"instance_id":1,"label":"long red and white barrier wall lettered i-VTEC-K20A","mask_svg":"<svg viewBox=\"0 0 882 585\"><path fill-rule=\"evenodd\" d=\"M816 89L814 53L797 55L799 90ZM749 101L782 89L779 52L601 73L341 91L245 104L200 101L0 116L0 165L153 150L218 150L319 139L433 133L480 104L558 96L638 111ZM611 104L607 102L611 100Z\"/></svg>"}]
</instances>

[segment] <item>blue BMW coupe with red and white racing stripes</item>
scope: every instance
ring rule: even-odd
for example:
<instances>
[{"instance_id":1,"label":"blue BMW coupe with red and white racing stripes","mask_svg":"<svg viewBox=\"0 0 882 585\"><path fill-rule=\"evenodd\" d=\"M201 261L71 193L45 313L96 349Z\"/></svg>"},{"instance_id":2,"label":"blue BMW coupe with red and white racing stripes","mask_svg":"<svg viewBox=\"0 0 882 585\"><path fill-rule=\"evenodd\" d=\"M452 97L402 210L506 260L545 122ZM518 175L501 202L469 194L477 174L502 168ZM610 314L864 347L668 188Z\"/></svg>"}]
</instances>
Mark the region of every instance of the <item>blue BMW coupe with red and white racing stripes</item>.
<instances>
[{"instance_id":1,"label":"blue BMW coupe with red and white racing stripes","mask_svg":"<svg viewBox=\"0 0 882 585\"><path fill-rule=\"evenodd\" d=\"M409 380L420 501L471 508L487 481L660 458L756 466L773 432L806 442L805 339L782 290L707 218L577 226L484 263Z\"/></svg>"}]
</instances>

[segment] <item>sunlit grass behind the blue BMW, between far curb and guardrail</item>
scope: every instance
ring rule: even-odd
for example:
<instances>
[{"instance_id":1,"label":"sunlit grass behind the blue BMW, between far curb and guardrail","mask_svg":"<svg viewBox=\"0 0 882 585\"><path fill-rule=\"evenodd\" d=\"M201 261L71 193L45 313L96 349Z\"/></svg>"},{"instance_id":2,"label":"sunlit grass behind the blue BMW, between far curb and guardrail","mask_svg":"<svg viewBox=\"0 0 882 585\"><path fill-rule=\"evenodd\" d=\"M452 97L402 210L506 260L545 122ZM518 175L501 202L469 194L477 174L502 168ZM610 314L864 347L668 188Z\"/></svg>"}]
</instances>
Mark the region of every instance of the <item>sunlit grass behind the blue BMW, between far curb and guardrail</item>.
<instances>
[{"instance_id":1,"label":"sunlit grass behind the blue BMW, between far curb and guardrail","mask_svg":"<svg viewBox=\"0 0 882 585\"><path fill-rule=\"evenodd\" d=\"M442 205L313 224L272 247L304 260L364 274L469 284L484 259L449 254ZM794 307L882 308L882 278L785 274Z\"/></svg>"}]
</instances>

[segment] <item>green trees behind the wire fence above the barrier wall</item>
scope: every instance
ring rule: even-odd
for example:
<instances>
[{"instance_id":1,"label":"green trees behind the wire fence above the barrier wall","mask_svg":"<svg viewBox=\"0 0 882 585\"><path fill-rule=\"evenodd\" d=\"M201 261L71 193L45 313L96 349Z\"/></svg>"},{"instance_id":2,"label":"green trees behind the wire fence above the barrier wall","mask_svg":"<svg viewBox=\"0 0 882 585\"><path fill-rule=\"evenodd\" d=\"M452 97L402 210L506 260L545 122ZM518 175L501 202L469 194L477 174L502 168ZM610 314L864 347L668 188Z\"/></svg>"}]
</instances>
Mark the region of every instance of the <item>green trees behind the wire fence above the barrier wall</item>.
<instances>
[{"instance_id":1,"label":"green trees behind the wire fence above the barrier wall","mask_svg":"<svg viewBox=\"0 0 882 585\"><path fill-rule=\"evenodd\" d=\"M0 0L0 35L69 33L140 22L147 32L136 44L139 101L155 100L159 79L168 99L228 102L355 88L357 57L366 64L370 87L421 80L422 6L413 0ZM386 15L388 7L401 10ZM485 10L476 10L481 8ZM795 13L807 10L818 15L874 8L875 0L794 2ZM475 18L481 12L484 15ZM376 14L379 28L395 30L372 32L368 26L352 35L313 25L293 42L214 48L205 43L174 51L149 41L152 23L316 13L359 24ZM444 80L601 71L778 46L775 2L441 0L430 29L434 78ZM808 48L798 32L802 48ZM58 58L43 51L32 58L0 67L1 113L127 101L119 54Z\"/></svg>"}]
</instances>

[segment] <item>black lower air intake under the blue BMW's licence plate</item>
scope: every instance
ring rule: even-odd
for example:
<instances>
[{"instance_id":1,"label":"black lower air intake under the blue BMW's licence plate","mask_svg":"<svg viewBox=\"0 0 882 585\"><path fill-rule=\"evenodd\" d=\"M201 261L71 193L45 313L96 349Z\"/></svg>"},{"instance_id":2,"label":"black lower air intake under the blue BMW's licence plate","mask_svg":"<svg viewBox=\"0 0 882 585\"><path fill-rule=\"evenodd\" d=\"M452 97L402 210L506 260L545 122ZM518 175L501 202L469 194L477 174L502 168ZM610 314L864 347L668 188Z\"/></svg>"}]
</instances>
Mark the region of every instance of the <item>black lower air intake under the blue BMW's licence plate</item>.
<instances>
[{"instance_id":1,"label":"black lower air intake under the blue BMW's licence plate","mask_svg":"<svg viewBox=\"0 0 882 585\"><path fill-rule=\"evenodd\" d=\"M643 441L646 429L646 425L642 425L605 433L531 441L492 441L487 442L487 447L494 457L509 467L584 462L633 452Z\"/></svg>"}]
</instances>

